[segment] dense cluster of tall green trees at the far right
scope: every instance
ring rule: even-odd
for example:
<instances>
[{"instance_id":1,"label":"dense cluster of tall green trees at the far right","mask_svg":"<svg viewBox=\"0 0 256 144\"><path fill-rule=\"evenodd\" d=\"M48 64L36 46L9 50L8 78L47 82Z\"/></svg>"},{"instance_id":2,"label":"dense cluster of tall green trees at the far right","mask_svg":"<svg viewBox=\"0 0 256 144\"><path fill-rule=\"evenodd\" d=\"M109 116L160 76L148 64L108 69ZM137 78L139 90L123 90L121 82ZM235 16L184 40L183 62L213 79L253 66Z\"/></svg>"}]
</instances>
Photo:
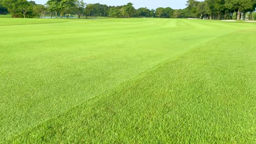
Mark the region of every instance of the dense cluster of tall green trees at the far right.
<instances>
[{"instance_id":1,"label":"dense cluster of tall green trees at the far right","mask_svg":"<svg viewBox=\"0 0 256 144\"><path fill-rule=\"evenodd\" d=\"M205 0L198 2L189 0L187 2L189 17L204 17L205 19L232 19L233 14L236 14L235 19L252 20L252 13L256 8L256 0ZM246 13L249 16L246 17Z\"/></svg>"}]
</instances>

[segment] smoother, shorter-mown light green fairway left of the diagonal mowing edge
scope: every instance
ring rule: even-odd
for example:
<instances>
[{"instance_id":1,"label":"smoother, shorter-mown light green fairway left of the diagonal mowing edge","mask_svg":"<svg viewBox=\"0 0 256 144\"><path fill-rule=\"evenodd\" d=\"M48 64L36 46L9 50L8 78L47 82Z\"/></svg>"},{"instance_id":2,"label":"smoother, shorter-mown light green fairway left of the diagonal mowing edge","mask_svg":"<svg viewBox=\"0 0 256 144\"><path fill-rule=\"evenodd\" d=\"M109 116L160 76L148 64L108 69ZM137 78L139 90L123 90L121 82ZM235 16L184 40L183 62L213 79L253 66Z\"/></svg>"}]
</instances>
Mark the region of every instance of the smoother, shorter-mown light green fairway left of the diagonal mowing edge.
<instances>
[{"instance_id":1,"label":"smoother, shorter-mown light green fairway left of the diagonal mowing edge","mask_svg":"<svg viewBox=\"0 0 256 144\"><path fill-rule=\"evenodd\" d=\"M195 21L193 28L181 28L173 26L176 21L188 23L107 19L4 26L0 41L1 140L61 115L196 45L253 27L226 23L215 28L212 23L211 29L202 29L200 22L206 21Z\"/></svg>"}]
</instances>

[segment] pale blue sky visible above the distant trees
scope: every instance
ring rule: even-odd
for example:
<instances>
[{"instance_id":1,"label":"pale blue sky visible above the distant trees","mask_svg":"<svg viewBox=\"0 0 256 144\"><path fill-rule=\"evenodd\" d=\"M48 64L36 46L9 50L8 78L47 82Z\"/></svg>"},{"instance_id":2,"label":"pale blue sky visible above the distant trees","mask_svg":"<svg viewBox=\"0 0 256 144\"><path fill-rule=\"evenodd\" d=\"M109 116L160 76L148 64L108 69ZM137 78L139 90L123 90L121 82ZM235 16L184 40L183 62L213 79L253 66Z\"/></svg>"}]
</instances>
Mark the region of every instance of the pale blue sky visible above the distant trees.
<instances>
[{"instance_id":1,"label":"pale blue sky visible above the distant trees","mask_svg":"<svg viewBox=\"0 0 256 144\"><path fill-rule=\"evenodd\" d=\"M28 0L30 1L30 0ZM37 4L45 4L48 0L32 0ZM171 7L172 9L184 9L188 0L120 0L120 1L109 1L109 0L84 0L85 3L100 3L107 5L124 5L129 2L133 3L135 8L147 7L149 9L156 9L159 7ZM201 0L202 1L202 0Z\"/></svg>"}]
</instances>

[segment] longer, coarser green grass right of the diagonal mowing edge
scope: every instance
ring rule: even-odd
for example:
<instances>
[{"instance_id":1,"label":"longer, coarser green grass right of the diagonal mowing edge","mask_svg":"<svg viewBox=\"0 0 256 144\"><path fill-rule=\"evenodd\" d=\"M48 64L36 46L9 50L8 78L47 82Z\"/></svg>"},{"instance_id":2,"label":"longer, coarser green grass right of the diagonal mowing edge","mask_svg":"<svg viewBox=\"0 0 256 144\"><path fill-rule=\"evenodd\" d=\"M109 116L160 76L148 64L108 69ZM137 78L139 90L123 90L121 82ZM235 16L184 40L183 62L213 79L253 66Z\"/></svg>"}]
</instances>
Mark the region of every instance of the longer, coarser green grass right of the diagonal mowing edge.
<instances>
[{"instance_id":1,"label":"longer, coarser green grass right of the diagonal mowing edge","mask_svg":"<svg viewBox=\"0 0 256 144\"><path fill-rule=\"evenodd\" d=\"M254 33L214 39L8 142L253 143Z\"/></svg>"}]
</instances>

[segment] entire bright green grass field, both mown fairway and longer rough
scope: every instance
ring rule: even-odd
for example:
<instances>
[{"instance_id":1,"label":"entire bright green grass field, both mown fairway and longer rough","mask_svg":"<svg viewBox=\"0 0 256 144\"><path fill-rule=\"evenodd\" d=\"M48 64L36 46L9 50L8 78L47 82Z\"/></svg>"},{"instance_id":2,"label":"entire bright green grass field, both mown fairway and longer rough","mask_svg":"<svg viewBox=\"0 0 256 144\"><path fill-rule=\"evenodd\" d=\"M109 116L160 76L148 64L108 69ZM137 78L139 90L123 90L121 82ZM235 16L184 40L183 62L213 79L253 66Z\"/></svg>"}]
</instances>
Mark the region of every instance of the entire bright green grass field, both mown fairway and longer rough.
<instances>
[{"instance_id":1,"label":"entire bright green grass field, both mown fairway and longer rough","mask_svg":"<svg viewBox=\"0 0 256 144\"><path fill-rule=\"evenodd\" d=\"M1 143L256 142L255 23L0 21Z\"/></svg>"}]
</instances>

